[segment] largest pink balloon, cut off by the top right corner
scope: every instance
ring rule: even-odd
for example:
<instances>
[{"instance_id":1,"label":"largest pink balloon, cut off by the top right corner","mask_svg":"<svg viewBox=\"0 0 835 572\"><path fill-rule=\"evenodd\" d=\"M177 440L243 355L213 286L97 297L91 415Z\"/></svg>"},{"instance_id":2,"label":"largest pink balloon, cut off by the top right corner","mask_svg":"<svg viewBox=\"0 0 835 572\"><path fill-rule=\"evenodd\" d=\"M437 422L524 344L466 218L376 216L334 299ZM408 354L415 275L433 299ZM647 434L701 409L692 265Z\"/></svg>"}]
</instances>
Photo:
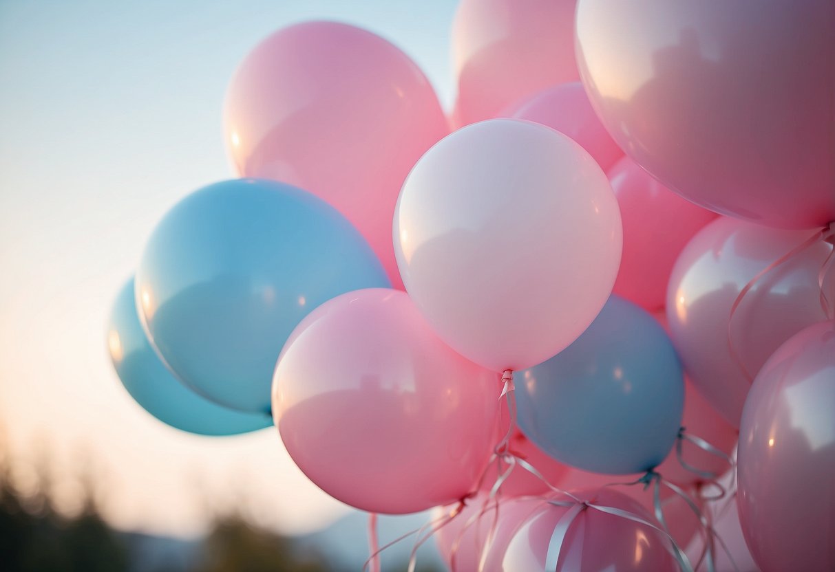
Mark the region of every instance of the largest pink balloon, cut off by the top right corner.
<instances>
[{"instance_id":1,"label":"largest pink balloon, cut off by the top right corner","mask_svg":"<svg viewBox=\"0 0 835 572\"><path fill-rule=\"evenodd\" d=\"M577 49L606 128L676 193L772 226L835 220L832 0L580 0Z\"/></svg>"}]
</instances>

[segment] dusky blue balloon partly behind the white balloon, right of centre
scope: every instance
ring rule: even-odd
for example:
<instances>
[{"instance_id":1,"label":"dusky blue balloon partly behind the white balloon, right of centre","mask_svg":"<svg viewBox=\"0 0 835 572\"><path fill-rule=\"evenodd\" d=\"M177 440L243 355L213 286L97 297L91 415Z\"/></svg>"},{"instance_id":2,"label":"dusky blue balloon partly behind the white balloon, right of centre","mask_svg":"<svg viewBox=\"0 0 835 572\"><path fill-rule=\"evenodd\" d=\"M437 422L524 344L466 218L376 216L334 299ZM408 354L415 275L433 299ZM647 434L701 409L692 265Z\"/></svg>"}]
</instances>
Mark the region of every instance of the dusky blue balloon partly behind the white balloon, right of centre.
<instances>
[{"instance_id":1,"label":"dusky blue balloon partly behind the white balloon, right of centre","mask_svg":"<svg viewBox=\"0 0 835 572\"><path fill-rule=\"evenodd\" d=\"M519 427L565 464L642 473L676 442L684 374L655 319L611 296L574 344L514 374Z\"/></svg>"}]
</instances>

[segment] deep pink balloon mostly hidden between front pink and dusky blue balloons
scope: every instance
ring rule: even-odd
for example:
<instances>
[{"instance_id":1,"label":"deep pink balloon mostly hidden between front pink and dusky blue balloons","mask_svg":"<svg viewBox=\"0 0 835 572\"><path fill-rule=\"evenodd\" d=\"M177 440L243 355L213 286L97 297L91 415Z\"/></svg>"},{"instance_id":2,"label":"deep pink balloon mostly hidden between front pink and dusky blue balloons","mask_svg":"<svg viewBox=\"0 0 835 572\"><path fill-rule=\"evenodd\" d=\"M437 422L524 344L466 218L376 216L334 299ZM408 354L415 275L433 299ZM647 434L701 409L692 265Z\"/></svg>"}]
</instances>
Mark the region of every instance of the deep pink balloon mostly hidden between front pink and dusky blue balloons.
<instances>
[{"instance_id":1,"label":"deep pink balloon mostly hidden between front pink and dusky blue balloons","mask_svg":"<svg viewBox=\"0 0 835 572\"><path fill-rule=\"evenodd\" d=\"M504 433L501 435L504 437ZM499 437L499 439L501 439ZM497 439L498 441L498 439ZM510 452L518 459L530 464L541 474L548 483L540 479L538 476L531 473L528 469L517 464L510 472L510 475L501 484L501 493L504 497L518 497L524 495L538 495L545 494L550 491L548 484L555 485L559 483L563 475L569 470L564 464L559 463L553 457L550 457L542 449L539 449L530 439L524 436L519 429L514 431L510 439ZM487 474L481 484L481 489L489 491L493 488L493 484L507 468L503 465L501 472L498 467L488 469Z\"/></svg>"}]
</instances>

